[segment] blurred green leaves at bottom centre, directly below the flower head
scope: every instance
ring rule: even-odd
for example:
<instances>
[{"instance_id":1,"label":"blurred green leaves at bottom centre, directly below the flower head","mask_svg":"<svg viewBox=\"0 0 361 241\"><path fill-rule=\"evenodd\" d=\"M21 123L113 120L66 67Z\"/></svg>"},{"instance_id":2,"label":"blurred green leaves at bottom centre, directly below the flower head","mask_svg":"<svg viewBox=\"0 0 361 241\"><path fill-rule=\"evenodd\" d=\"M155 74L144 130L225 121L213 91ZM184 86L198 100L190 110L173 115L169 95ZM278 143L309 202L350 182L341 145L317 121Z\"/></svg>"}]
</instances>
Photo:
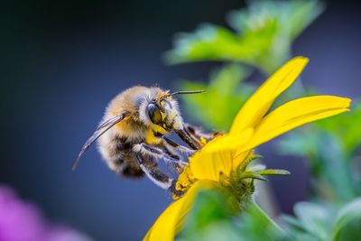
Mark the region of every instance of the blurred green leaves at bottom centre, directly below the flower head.
<instances>
[{"instance_id":1,"label":"blurred green leaves at bottom centre, directly below the flower head","mask_svg":"<svg viewBox=\"0 0 361 241\"><path fill-rule=\"evenodd\" d=\"M199 192L177 240L291 240L252 200L236 216L228 203L219 190Z\"/></svg>"}]
</instances>

